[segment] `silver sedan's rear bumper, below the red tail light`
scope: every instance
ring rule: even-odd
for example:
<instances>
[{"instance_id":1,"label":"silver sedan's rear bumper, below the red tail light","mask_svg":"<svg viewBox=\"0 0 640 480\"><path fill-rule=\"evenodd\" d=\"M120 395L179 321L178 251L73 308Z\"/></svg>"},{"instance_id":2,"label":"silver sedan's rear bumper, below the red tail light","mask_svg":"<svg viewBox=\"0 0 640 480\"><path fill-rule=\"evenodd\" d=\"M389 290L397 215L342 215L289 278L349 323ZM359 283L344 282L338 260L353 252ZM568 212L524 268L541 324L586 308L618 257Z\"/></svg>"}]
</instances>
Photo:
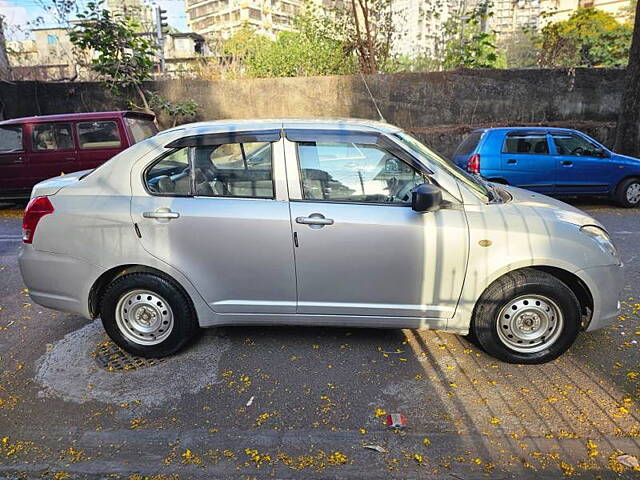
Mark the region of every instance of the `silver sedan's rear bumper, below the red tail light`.
<instances>
[{"instance_id":1,"label":"silver sedan's rear bumper, below the red tail light","mask_svg":"<svg viewBox=\"0 0 640 480\"><path fill-rule=\"evenodd\" d=\"M18 264L31 299L43 307L91 318L89 290L103 269L84 260L23 245Z\"/></svg>"}]
</instances>

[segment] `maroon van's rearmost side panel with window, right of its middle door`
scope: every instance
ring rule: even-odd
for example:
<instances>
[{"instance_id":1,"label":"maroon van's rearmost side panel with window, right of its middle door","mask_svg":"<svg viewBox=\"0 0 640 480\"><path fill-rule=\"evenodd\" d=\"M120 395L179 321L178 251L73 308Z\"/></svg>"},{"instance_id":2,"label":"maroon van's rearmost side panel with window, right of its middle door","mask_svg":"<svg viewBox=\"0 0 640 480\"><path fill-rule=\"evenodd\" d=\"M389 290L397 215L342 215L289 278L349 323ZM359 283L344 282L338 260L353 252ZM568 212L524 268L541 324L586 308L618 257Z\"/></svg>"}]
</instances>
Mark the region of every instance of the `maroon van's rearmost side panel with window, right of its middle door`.
<instances>
[{"instance_id":1,"label":"maroon van's rearmost side panel with window, right of its middle door","mask_svg":"<svg viewBox=\"0 0 640 480\"><path fill-rule=\"evenodd\" d=\"M79 169L96 168L125 148L125 132L116 119L76 122Z\"/></svg>"}]
</instances>

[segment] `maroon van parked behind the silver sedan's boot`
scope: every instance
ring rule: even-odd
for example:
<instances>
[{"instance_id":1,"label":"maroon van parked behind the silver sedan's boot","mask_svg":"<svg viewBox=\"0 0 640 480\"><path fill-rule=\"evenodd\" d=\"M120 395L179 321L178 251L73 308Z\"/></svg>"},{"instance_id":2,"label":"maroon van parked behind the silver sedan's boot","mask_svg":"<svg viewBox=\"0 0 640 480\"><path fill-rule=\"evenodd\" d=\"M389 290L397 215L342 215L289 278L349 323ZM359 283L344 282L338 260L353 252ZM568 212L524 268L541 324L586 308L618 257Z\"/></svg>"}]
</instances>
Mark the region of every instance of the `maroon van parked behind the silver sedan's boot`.
<instances>
[{"instance_id":1,"label":"maroon van parked behind the silver sedan's boot","mask_svg":"<svg viewBox=\"0 0 640 480\"><path fill-rule=\"evenodd\" d=\"M36 183L95 168L156 133L152 114L128 111L0 122L0 198L28 198Z\"/></svg>"}]
</instances>

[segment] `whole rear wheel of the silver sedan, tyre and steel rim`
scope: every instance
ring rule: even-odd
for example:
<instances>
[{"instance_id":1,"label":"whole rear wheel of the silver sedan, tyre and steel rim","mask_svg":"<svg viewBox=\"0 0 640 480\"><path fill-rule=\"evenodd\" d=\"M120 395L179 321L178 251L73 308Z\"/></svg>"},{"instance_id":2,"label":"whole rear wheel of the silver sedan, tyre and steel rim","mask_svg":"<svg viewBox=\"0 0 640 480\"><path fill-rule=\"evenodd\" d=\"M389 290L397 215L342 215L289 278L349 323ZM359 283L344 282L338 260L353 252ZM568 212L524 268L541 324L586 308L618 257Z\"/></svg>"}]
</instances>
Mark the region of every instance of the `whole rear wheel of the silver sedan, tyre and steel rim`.
<instances>
[{"instance_id":1,"label":"whole rear wheel of the silver sedan, tyre and steel rim","mask_svg":"<svg viewBox=\"0 0 640 480\"><path fill-rule=\"evenodd\" d=\"M199 329L186 294L173 282L150 273L117 278L102 298L101 317L109 337L141 357L171 355Z\"/></svg>"}]
</instances>

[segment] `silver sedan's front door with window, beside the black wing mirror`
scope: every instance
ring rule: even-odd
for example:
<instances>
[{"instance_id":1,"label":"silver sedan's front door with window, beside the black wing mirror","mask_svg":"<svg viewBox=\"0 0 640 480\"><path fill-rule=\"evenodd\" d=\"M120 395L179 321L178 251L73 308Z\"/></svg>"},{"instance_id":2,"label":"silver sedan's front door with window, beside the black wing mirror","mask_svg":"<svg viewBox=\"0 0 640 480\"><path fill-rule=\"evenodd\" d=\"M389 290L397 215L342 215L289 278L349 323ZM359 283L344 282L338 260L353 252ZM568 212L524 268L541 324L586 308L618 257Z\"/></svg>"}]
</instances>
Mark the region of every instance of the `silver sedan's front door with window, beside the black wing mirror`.
<instances>
[{"instance_id":1,"label":"silver sedan's front door with window, beside the black wing mirror","mask_svg":"<svg viewBox=\"0 0 640 480\"><path fill-rule=\"evenodd\" d=\"M446 325L467 263L462 208L414 212L411 189L429 180L382 135L300 130L287 139L297 312Z\"/></svg>"}]
</instances>

